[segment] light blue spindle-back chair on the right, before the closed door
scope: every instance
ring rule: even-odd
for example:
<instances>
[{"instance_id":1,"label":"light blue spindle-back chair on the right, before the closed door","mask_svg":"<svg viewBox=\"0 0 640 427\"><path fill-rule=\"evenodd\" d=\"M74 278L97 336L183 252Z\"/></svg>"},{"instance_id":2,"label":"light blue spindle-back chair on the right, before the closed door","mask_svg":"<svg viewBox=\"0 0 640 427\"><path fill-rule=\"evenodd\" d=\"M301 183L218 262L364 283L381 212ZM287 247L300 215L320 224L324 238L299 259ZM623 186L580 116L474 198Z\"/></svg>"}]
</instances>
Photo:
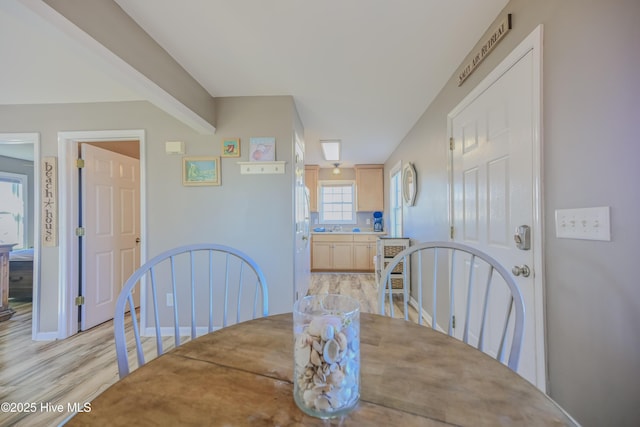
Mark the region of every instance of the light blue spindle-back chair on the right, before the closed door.
<instances>
[{"instance_id":1,"label":"light blue spindle-back chair on the right, before the closed door","mask_svg":"<svg viewBox=\"0 0 640 427\"><path fill-rule=\"evenodd\" d=\"M411 265L410 280L394 290L393 273L401 263ZM413 319L419 324L461 339L502 363L508 354L507 366L517 371L524 301L511 273L488 254L453 242L410 246L382 266L380 314L395 317L394 291L400 294L405 320L411 305L419 313Z\"/></svg>"}]
</instances>

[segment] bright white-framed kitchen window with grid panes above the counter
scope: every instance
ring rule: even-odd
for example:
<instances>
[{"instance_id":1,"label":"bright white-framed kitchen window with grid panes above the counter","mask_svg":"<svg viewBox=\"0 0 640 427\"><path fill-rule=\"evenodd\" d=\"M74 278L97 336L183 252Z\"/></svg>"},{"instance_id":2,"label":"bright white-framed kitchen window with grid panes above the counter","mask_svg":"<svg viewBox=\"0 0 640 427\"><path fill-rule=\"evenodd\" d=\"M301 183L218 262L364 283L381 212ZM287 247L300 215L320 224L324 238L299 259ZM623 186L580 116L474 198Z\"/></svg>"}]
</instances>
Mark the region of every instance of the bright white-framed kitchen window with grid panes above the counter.
<instances>
[{"instance_id":1,"label":"bright white-framed kitchen window with grid panes above the counter","mask_svg":"<svg viewBox=\"0 0 640 427\"><path fill-rule=\"evenodd\" d=\"M320 181L320 223L355 224L355 183Z\"/></svg>"}]
</instances>

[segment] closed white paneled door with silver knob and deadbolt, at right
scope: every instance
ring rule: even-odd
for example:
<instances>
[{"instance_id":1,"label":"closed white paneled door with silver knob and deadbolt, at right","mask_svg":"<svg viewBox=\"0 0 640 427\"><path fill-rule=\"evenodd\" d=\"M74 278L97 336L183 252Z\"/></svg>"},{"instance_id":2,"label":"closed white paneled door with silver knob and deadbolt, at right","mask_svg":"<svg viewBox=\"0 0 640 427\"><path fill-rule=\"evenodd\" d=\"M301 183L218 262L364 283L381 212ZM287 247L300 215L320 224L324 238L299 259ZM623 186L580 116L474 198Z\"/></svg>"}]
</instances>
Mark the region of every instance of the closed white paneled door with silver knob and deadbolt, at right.
<instances>
[{"instance_id":1,"label":"closed white paneled door with silver knob and deadbolt, at right","mask_svg":"<svg viewBox=\"0 0 640 427\"><path fill-rule=\"evenodd\" d=\"M539 65L535 58L532 50L513 58L505 72L489 76L489 81L483 82L486 87L475 92L473 99L463 101L449 117L454 142L454 240L489 253L507 270L529 267L528 277L516 277L526 311L518 373L545 390L543 275L535 269L541 250L537 229L540 207L536 203L541 197L537 185L540 170L534 170L534 159L539 158L535 151L539 150L535 110L539 104L534 90L535 67ZM516 228L522 225L533 230L527 250L519 249L514 239ZM477 289L475 295L480 298L482 290ZM502 320L495 319L498 323ZM497 350L498 342L498 336L489 337L489 352Z\"/></svg>"}]
</instances>

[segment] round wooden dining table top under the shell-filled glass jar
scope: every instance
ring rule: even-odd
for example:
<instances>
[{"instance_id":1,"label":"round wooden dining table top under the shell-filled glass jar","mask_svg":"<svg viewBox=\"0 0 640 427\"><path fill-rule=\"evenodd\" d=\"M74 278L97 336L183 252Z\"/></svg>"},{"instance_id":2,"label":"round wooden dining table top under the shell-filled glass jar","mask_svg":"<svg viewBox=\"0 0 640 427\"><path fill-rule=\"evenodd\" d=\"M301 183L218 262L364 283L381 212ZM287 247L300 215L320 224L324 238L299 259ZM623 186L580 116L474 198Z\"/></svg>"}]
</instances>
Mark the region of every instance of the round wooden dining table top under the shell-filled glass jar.
<instances>
[{"instance_id":1,"label":"round wooden dining table top under the shell-filled glass jar","mask_svg":"<svg viewBox=\"0 0 640 427\"><path fill-rule=\"evenodd\" d=\"M507 366L445 334L360 315L358 406L329 421L293 400L293 318L203 335L134 370L69 426L564 426L575 422Z\"/></svg>"}]
</instances>

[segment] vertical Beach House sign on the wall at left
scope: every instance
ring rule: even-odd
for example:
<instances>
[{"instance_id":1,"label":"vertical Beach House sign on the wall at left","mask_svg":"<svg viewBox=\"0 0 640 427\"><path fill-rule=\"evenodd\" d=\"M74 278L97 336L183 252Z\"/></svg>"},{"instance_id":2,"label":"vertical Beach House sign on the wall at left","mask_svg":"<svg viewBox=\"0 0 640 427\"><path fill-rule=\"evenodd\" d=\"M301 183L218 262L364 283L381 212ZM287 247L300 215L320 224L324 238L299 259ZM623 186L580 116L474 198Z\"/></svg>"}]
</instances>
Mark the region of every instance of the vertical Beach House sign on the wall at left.
<instances>
[{"instance_id":1,"label":"vertical Beach House sign on the wall at left","mask_svg":"<svg viewBox=\"0 0 640 427\"><path fill-rule=\"evenodd\" d=\"M42 246L58 246L58 163L55 157L42 159L40 179Z\"/></svg>"}]
</instances>

